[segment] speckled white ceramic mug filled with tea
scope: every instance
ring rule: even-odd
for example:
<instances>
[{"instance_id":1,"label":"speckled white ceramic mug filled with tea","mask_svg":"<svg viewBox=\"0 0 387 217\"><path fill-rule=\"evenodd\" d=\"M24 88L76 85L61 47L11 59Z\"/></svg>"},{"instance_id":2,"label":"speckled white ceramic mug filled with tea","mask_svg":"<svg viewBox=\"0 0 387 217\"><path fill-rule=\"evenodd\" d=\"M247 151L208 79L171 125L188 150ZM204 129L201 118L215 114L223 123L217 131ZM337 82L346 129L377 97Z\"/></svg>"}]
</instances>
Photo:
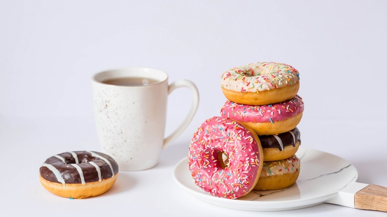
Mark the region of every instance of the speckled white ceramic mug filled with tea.
<instances>
[{"instance_id":1,"label":"speckled white ceramic mug filled with tea","mask_svg":"<svg viewBox=\"0 0 387 217\"><path fill-rule=\"evenodd\" d=\"M135 86L104 83L111 79L135 77L155 81ZM192 106L180 126L164 138L167 98L179 87L192 91ZM193 82L177 80L168 84L167 73L152 68L132 67L99 72L92 77L92 88L102 152L113 157L122 171L155 166L162 149L170 145L191 122L199 102Z\"/></svg>"}]
</instances>

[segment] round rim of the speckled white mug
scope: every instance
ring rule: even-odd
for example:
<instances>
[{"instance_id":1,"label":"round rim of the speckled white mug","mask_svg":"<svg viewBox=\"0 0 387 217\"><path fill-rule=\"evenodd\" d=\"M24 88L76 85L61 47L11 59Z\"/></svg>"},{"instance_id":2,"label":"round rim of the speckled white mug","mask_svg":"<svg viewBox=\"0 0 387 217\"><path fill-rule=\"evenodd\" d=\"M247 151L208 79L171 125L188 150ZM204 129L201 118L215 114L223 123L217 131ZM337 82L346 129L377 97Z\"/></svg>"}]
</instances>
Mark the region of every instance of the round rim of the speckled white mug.
<instances>
[{"instance_id":1,"label":"round rim of the speckled white mug","mask_svg":"<svg viewBox=\"0 0 387 217\"><path fill-rule=\"evenodd\" d=\"M134 72L134 74L138 74L138 75L137 76L135 76L135 75L133 76L133 72ZM123 76L123 74L125 74L125 73L131 73L132 76ZM144 73L147 74L148 76L143 76ZM161 74L160 76L162 76L163 78L158 79L158 78L149 76L149 74L152 74L152 73L153 73L153 75ZM101 79L101 77L104 77L104 79ZM155 83L152 83L152 84L147 84L147 85L131 85L131 86L116 85L116 84L106 84L106 83L103 82L103 80L107 80L107 79L124 78L124 77L146 77L146 78L156 79L156 80L158 80L158 82L155 82ZM132 88L132 87L148 87L148 86L157 85L157 84L160 84L160 83L163 83L163 82L167 81L168 80L168 74L165 71L157 69L157 68L125 67L125 68L108 69L108 70L103 70L103 71L97 72L97 73L95 73L91 77L91 79L92 79L93 82L96 82L98 84L109 85L109 86L116 86L116 87L124 87L124 88L125 87L129 87L129 88Z\"/></svg>"}]
</instances>

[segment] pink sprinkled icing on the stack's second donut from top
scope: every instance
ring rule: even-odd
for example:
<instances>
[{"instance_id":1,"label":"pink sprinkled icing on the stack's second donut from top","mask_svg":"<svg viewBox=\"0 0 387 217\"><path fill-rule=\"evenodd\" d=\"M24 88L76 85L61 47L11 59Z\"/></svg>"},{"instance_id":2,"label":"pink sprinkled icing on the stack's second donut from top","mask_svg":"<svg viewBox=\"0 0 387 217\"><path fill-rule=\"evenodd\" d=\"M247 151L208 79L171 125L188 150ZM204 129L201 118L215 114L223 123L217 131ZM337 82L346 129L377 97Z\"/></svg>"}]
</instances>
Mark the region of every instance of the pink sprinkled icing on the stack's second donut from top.
<instances>
[{"instance_id":1,"label":"pink sprinkled icing on the stack's second donut from top","mask_svg":"<svg viewBox=\"0 0 387 217\"><path fill-rule=\"evenodd\" d=\"M226 101L220 114L222 117L231 118L242 122L274 122L285 120L304 111L302 98L294 98L270 105L250 106Z\"/></svg>"}]
</instances>

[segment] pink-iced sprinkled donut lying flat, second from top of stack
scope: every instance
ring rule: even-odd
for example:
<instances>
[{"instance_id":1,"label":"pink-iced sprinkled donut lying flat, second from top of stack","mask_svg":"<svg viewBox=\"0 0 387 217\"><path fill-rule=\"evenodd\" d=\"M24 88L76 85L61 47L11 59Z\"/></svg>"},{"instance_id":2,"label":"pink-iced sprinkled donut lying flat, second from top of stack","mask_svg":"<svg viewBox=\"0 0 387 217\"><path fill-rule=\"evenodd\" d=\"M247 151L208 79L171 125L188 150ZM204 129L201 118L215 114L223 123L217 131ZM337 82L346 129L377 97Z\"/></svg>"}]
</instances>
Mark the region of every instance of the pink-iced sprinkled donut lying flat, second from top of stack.
<instances>
[{"instance_id":1,"label":"pink-iced sprinkled donut lying flat, second from top of stack","mask_svg":"<svg viewBox=\"0 0 387 217\"><path fill-rule=\"evenodd\" d=\"M264 106L250 106L226 101L220 110L222 117L231 118L251 127L257 135L284 133L296 128L304 111L302 98Z\"/></svg>"}]
</instances>

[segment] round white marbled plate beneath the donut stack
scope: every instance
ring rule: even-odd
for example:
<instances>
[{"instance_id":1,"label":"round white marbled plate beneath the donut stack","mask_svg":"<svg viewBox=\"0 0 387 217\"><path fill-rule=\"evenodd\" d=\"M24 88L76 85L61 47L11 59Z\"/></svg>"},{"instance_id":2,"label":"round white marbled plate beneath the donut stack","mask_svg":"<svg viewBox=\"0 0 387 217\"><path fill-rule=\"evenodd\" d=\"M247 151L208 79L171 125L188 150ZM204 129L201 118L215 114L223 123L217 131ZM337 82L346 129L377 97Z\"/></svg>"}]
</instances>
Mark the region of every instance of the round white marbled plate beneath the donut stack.
<instances>
[{"instance_id":1,"label":"round white marbled plate beneath the donut stack","mask_svg":"<svg viewBox=\"0 0 387 217\"><path fill-rule=\"evenodd\" d=\"M235 200L212 196L196 186L187 158L176 164L173 176L180 187L207 203L247 211L283 211L319 205L358 177L355 166L335 155L302 147L296 155L301 169L294 185L281 190L253 190Z\"/></svg>"}]
</instances>

